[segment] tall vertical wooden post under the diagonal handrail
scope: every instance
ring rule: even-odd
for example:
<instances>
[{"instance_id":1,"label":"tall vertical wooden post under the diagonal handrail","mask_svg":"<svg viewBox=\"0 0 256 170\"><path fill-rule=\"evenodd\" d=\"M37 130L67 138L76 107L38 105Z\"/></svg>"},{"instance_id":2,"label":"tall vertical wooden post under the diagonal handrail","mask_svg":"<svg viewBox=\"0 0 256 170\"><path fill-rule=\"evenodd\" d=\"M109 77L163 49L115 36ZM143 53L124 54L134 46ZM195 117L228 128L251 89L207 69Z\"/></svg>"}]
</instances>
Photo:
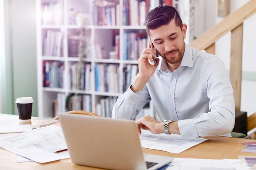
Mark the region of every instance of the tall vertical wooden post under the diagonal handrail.
<instances>
[{"instance_id":1,"label":"tall vertical wooden post under the diagonal handrail","mask_svg":"<svg viewBox=\"0 0 256 170\"><path fill-rule=\"evenodd\" d=\"M230 81L234 91L236 111L241 105L241 78L243 52L243 23L231 31Z\"/></svg>"}]
</instances>

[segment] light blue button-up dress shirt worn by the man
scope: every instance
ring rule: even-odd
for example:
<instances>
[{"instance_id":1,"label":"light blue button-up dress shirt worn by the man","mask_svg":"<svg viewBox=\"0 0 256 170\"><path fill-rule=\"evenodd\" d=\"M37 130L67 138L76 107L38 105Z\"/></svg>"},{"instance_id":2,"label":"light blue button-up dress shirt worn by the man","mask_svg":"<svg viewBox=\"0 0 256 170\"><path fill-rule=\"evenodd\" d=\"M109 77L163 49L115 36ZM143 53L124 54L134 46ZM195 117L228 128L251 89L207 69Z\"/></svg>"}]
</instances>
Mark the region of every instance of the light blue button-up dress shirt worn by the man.
<instances>
[{"instance_id":1,"label":"light blue button-up dress shirt worn by the man","mask_svg":"<svg viewBox=\"0 0 256 170\"><path fill-rule=\"evenodd\" d=\"M231 136L235 101L229 74L215 55L186 44L180 67L171 72L160 57L153 76L142 91L131 88L119 96L113 119L135 119L152 100L161 120L177 121L183 137Z\"/></svg>"}]
</instances>

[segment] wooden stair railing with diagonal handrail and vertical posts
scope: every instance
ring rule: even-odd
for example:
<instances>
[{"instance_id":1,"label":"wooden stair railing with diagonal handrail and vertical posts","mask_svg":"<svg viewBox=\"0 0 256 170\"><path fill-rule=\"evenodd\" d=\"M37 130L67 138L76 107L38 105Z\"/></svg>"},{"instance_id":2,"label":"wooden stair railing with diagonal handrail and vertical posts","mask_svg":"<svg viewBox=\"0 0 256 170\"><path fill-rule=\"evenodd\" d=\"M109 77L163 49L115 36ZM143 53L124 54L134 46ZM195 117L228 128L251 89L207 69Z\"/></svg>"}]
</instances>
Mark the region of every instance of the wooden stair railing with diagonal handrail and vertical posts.
<instances>
[{"instance_id":1,"label":"wooden stair railing with diagonal handrail and vertical posts","mask_svg":"<svg viewBox=\"0 0 256 170\"><path fill-rule=\"evenodd\" d=\"M250 0L190 43L193 48L215 54L215 42L231 31L230 82L234 91L236 111L240 111L241 106L243 23L255 13L256 0ZM256 127L256 113L248 117L247 127L248 131Z\"/></svg>"}]
</instances>

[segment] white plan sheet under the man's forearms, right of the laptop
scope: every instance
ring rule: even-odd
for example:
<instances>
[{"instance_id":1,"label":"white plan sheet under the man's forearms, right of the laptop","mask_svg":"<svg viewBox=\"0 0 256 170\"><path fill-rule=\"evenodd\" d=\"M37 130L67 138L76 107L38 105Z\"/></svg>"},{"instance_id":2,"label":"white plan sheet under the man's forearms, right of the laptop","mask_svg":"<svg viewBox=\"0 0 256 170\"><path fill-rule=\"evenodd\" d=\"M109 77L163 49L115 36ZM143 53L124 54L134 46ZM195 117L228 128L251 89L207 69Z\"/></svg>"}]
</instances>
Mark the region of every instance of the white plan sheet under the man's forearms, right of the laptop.
<instances>
[{"instance_id":1,"label":"white plan sheet under the man's forearms, right of the laptop","mask_svg":"<svg viewBox=\"0 0 256 170\"><path fill-rule=\"evenodd\" d=\"M142 147L163 150L170 153L181 153L201 142L208 139L204 138L182 138L180 135L171 134L158 134L155 135L148 130L142 130L140 135L140 143Z\"/></svg>"}]
</instances>

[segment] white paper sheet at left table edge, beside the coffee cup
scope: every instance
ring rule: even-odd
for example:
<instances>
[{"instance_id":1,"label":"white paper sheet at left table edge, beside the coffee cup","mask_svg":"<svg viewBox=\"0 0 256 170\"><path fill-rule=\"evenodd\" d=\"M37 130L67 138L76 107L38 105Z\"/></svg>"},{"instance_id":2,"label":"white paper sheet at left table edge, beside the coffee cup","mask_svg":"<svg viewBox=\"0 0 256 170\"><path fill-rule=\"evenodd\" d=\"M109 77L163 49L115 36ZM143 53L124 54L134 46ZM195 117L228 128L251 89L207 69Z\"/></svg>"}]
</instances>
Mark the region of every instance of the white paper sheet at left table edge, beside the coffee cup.
<instances>
[{"instance_id":1,"label":"white paper sheet at left table edge, beside the coffee cup","mask_svg":"<svg viewBox=\"0 0 256 170\"><path fill-rule=\"evenodd\" d=\"M32 130L33 125L0 125L0 133L18 133Z\"/></svg>"}]
</instances>

